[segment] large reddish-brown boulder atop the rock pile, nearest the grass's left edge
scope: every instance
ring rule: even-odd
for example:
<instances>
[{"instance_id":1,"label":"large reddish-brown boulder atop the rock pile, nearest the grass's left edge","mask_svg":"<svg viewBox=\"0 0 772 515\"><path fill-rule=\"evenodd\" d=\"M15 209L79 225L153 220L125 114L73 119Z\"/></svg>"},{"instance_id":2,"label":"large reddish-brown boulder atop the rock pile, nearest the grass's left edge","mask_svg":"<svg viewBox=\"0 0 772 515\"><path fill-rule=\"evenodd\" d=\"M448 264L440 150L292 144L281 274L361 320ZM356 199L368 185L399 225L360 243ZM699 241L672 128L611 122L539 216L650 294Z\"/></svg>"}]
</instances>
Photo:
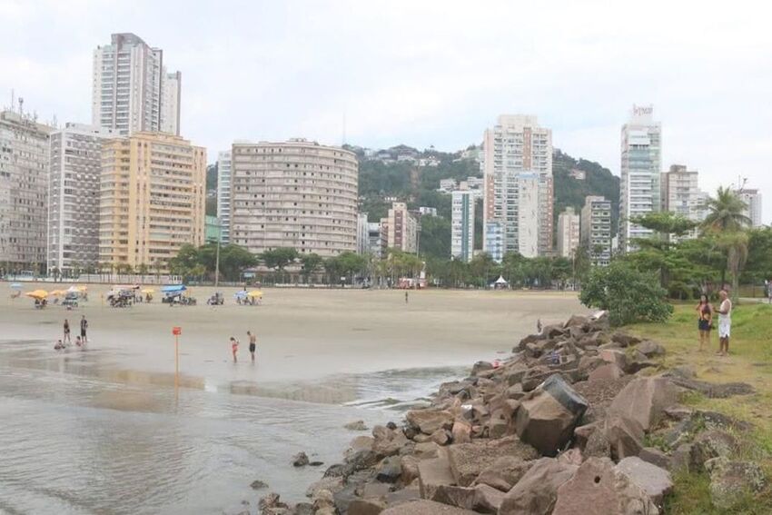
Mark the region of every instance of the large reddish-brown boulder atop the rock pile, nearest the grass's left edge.
<instances>
[{"instance_id":1,"label":"large reddish-brown boulder atop the rock pile, nearest the grass's left edge","mask_svg":"<svg viewBox=\"0 0 772 515\"><path fill-rule=\"evenodd\" d=\"M638 421L644 431L662 419L665 409L678 401L676 387L667 379L641 378L628 382L609 406L609 412L619 413Z\"/></svg>"}]
</instances>

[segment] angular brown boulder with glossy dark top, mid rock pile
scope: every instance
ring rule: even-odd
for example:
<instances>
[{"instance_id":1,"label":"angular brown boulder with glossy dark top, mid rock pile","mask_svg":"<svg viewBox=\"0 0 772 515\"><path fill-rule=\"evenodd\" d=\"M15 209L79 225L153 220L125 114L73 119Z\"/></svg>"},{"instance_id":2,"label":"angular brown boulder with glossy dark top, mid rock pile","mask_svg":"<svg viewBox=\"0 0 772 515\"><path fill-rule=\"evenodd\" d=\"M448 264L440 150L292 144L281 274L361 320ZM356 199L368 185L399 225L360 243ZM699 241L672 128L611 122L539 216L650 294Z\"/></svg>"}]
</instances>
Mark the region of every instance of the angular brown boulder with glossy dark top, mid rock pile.
<instances>
[{"instance_id":1,"label":"angular brown boulder with glossy dark top, mid rock pile","mask_svg":"<svg viewBox=\"0 0 772 515\"><path fill-rule=\"evenodd\" d=\"M588 402L558 374L520 401L515 427L520 440L554 456L571 439Z\"/></svg>"}]
</instances>

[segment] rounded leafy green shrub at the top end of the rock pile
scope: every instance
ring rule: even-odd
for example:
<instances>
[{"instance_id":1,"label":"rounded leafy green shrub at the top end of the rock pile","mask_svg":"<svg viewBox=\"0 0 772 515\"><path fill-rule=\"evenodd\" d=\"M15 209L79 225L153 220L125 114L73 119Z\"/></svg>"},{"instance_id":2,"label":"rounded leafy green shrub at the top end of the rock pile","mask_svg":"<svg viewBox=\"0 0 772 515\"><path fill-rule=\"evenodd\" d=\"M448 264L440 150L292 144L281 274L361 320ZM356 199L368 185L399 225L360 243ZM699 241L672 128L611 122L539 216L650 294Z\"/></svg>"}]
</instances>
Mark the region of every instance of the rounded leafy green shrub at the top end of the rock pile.
<instances>
[{"instance_id":1,"label":"rounded leafy green shrub at the top end of the rock pile","mask_svg":"<svg viewBox=\"0 0 772 515\"><path fill-rule=\"evenodd\" d=\"M652 273L638 272L626 262L595 268L582 285L579 301L609 312L612 325L633 322L665 322L673 312Z\"/></svg>"}]
</instances>

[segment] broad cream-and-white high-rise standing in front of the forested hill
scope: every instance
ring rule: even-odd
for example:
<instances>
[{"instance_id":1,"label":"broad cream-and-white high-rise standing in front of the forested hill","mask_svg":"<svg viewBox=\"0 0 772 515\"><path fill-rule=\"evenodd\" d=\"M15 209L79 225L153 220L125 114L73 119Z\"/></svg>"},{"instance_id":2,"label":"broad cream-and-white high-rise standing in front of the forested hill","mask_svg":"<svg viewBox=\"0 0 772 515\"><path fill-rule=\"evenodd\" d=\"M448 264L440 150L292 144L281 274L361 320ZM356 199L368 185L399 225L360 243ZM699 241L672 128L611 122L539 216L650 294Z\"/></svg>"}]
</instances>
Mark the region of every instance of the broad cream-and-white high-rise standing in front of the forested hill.
<instances>
[{"instance_id":1,"label":"broad cream-and-white high-rise standing in front of the forested hill","mask_svg":"<svg viewBox=\"0 0 772 515\"><path fill-rule=\"evenodd\" d=\"M552 131L536 116L504 114L483 147L483 250L498 262L510 252L550 255Z\"/></svg>"}]
</instances>

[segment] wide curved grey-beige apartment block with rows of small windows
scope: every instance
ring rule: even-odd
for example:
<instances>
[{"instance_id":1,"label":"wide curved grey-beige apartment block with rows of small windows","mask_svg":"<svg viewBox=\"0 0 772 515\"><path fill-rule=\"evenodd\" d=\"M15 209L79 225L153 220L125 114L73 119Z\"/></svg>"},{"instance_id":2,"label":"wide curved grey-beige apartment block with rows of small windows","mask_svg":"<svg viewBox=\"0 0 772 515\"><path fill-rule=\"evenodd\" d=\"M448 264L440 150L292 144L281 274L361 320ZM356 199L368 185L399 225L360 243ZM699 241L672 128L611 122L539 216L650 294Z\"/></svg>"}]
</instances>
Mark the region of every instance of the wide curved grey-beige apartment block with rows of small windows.
<instances>
[{"instance_id":1,"label":"wide curved grey-beige apartment block with rows of small windows","mask_svg":"<svg viewBox=\"0 0 772 515\"><path fill-rule=\"evenodd\" d=\"M234 143L230 241L262 253L357 250L356 154L304 139Z\"/></svg>"}]
</instances>

